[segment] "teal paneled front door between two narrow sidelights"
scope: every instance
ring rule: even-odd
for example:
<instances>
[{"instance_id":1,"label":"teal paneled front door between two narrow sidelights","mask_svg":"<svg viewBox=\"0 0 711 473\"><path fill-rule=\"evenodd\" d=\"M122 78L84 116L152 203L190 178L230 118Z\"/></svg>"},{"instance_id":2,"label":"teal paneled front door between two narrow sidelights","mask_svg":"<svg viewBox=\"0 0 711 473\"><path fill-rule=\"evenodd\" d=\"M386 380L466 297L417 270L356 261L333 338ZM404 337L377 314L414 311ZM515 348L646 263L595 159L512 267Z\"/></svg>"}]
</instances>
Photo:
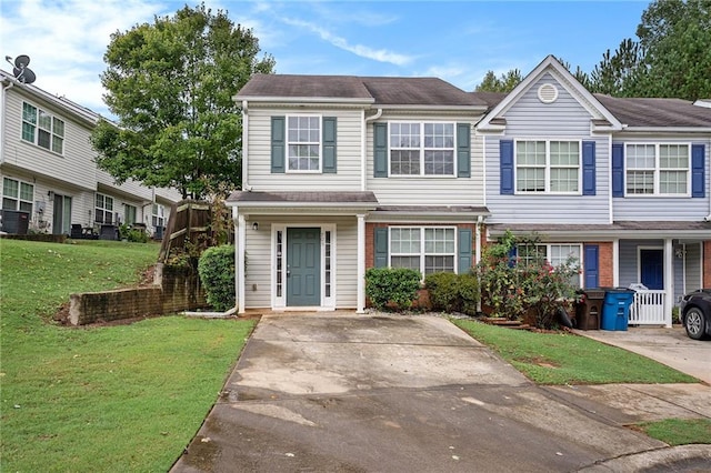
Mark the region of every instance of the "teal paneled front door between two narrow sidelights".
<instances>
[{"instance_id":1,"label":"teal paneled front door between two narrow sidelights","mask_svg":"<svg viewBox=\"0 0 711 473\"><path fill-rule=\"evenodd\" d=\"M321 304L321 229L287 229L287 305Z\"/></svg>"}]
</instances>

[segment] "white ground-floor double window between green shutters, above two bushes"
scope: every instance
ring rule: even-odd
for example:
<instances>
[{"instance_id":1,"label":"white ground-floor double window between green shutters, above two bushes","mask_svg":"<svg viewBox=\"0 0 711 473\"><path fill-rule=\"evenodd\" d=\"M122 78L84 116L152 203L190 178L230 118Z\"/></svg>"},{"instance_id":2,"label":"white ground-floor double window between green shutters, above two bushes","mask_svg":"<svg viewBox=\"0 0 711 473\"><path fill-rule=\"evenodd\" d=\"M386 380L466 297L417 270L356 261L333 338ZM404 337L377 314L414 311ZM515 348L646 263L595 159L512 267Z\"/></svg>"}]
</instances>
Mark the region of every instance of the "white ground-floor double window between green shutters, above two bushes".
<instances>
[{"instance_id":1,"label":"white ground-floor double window between green shutters, above two bushes","mask_svg":"<svg viewBox=\"0 0 711 473\"><path fill-rule=\"evenodd\" d=\"M455 272L455 228L391 227L390 266L410 268L423 275Z\"/></svg>"}]
</instances>

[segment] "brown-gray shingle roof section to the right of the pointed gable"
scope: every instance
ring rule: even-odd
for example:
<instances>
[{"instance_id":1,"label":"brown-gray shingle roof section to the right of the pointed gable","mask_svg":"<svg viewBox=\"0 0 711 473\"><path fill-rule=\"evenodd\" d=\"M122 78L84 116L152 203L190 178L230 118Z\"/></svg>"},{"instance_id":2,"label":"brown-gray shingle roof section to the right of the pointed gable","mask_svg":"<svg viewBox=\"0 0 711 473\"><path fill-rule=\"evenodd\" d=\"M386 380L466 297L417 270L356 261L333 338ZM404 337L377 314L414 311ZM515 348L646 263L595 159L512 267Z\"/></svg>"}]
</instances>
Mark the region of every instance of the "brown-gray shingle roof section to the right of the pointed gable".
<instances>
[{"instance_id":1,"label":"brown-gray shingle roof section to the right of the pointed gable","mask_svg":"<svg viewBox=\"0 0 711 473\"><path fill-rule=\"evenodd\" d=\"M711 109L682 99L629 99L595 93L620 122L629 127L711 128Z\"/></svg>"}]
</instances>

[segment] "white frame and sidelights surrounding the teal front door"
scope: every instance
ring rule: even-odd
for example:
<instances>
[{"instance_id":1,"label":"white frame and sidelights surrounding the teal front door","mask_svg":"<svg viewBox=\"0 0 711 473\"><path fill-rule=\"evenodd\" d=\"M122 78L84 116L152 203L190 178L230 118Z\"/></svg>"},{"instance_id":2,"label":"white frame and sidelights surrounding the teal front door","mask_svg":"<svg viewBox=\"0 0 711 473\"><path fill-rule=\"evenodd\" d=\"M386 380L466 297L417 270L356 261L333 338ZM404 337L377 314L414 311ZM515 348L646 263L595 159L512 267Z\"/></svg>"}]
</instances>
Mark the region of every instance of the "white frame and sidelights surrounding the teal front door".
<instances>
[{"instance_id":1,"label":"white frame and sidelights surrounding the teal front door","mask_svg":"<svg viewBox=\"0 0 711 473\"><path fill-rule=\"evenodd\" d=\"M320 236L320 252L321 252L321 302L317 310L336 310L336 301L338 301L338 245L337 245L337 233L336 223L308 223L308 222L299 222L299 223L281 223L281 224L272 224L271 225L271 264L270 264L270 293L271 293L271 306L272 310L289 310L290 306L287 305L287 261L288 261L288 252L289 252L289 242L287 241L287 230L290 228L314 228L321 229ZM331 279L328 281L331 285L331 295L326 296L326 232L331 232ZM281 295L277 295L277 232L282 232L282 251L281 251ZM249 263L248 263L249 264ZM294 310L307 310L309 308L297 306Z\"/></svg>"}]
</instances>

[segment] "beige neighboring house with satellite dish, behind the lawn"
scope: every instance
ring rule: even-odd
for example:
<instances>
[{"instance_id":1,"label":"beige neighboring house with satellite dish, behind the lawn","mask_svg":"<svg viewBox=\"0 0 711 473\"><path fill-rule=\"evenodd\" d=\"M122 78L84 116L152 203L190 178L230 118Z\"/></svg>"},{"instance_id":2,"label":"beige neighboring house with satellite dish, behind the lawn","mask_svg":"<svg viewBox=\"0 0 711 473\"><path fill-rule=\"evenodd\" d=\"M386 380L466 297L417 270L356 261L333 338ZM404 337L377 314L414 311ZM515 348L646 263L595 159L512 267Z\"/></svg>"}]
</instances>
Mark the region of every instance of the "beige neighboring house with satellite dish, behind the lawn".
<instances>
[{"instance_id":1,"label":"beige neighboring house with satellite dish, behind the lawn","mask_svg":"<svg viewBox=\"0 0 711 473\"><path fill-rule=\"evenodd\" d=\"M137 182L118 185L97 168L89 137L99 115L0 71L0 193L2 210L27 212L29 231L144 223L161 233L174 190ZM7 214L4 215L7 219Z\"/></svg>"}]
</instances>

